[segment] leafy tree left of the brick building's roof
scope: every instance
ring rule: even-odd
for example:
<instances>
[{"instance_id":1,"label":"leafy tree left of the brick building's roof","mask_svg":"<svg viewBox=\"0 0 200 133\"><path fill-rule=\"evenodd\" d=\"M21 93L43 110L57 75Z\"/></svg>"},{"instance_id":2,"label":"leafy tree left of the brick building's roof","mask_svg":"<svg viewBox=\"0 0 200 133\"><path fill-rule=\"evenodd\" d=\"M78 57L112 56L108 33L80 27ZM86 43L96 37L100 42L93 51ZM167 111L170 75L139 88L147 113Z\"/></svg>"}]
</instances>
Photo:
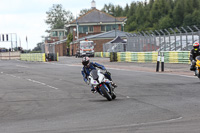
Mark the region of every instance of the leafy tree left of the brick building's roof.
<instances>
[{"instance_id":1,"label":"leafy tree left of the brick building's roof","mask_svg":"<svg viewBox=\"0 0 200 133\"><path fill-rule=\"evenodd\" d=\"M73 20L70 11L65 11L61 4L53 4L53 7L46 12L46 24L50 25L50 29L64 29L64 25Z\"/></svg>"}]
</instances>

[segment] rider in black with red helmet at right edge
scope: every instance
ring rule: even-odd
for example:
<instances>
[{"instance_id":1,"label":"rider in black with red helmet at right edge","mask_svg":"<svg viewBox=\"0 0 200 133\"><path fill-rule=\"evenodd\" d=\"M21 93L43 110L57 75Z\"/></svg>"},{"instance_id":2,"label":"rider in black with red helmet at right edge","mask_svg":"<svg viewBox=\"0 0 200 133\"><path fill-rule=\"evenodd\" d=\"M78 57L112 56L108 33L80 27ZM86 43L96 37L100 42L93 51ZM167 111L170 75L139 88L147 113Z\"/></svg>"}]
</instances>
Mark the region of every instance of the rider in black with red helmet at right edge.
<instances>
[{"instance_id":1,"label":"rider in black with red helmet at right edge","mask_svg":"<svg viewBox=\"0 0 200 133\"><path fill-rule=\"evenodd\" d=\"M190 61L191 61L190 70L191 71L195 71L195 64L196 64L195 58L199 55L200 55L199 43L195 42L193 44L193 49L190 51Z\"/></svg>"}]
</instances>

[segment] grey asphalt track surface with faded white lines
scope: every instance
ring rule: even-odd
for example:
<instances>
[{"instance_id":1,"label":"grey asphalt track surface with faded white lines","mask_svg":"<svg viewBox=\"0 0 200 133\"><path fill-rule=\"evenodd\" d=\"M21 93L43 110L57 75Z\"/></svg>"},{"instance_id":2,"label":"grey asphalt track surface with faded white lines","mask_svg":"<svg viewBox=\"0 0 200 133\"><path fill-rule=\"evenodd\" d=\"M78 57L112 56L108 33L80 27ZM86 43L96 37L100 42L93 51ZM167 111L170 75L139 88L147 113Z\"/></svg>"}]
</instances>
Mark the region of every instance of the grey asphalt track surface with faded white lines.
<instances>
[{"instance_id":1,"label":"grey asphalt track surface with faded white lines","mask_svg":"<svg viewBox=\"0 0 200 133\"><path fill-rule=\"evenodd\" d=\"M0 60L0 133L200 133L200 80L188 64L116 63L111 102L90 92L80 58Z\"/></svg>"}]
</instances>

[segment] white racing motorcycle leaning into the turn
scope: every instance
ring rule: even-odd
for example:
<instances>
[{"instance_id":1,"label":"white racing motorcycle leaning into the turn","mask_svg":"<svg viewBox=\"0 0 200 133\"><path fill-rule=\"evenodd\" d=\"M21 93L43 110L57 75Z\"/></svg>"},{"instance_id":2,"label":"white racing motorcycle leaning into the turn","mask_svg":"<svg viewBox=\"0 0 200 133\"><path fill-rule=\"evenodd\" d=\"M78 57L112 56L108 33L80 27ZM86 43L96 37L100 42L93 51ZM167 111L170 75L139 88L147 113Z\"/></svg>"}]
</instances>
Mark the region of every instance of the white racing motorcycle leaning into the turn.
<instances>
[{"instance_id":1,"label":"white racing motorcycle leaning into the turn","mask_svg":"<svg viewBox=\"0 0 200 133\"><path fill-rule=\"evenodd\" d=\"M108 101L116 98L114 87L111 85L112 81L104 76L104 72L102 72L102 70L92 70L88 79L89 83L94 87L96 92L105 97Z\"/></svg>"}]
</instances>

